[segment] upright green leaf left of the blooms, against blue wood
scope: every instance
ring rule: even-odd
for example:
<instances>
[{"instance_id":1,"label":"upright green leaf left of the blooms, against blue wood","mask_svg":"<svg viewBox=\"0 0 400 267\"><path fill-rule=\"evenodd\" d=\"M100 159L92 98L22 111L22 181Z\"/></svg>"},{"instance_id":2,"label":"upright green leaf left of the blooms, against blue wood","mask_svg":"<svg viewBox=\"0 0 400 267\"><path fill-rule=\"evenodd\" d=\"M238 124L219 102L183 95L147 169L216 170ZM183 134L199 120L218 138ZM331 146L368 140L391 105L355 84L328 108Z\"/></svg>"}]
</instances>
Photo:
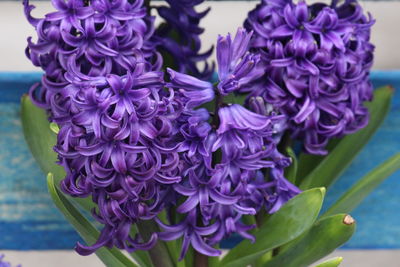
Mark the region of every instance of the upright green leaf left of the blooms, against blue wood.
<instances>
[{"instance_id":1,"label":"upright green leaf left of the blooms, against blue wood","mask_svg":"<svg viewBox=\"0 0 400 267\"><path fill-rule=\"evenodd\" d=\"M21 99L21 122L29 149L44 173L53 173L57 183L65 177L64 169L56 164L56 134L50 129L46 112L35 106L28 95Z\"/></svg>"}]
</instances>

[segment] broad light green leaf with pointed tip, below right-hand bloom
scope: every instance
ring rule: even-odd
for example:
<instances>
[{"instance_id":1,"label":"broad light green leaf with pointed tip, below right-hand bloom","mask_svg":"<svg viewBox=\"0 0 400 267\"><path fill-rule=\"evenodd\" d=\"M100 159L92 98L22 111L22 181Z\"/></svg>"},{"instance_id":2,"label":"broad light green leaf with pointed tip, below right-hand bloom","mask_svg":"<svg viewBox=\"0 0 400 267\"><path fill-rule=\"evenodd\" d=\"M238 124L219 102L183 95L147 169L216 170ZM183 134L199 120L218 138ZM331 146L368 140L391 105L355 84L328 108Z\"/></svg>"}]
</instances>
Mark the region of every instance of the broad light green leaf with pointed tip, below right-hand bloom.
<instances>
[{"instance_id":1,"label":"broad light green leaf with pointed tip, below right-hand bloom","mask_svg":"<svg viewBox=\"0 0 400 267\"><path fill-rule=\"evenodd\" d=\"M308 230L321 209L325 189L307 190L289 200L254 233L256 242L244 240L222 259L220 266L242 267Z\"/></svg>"}]
</instances>

